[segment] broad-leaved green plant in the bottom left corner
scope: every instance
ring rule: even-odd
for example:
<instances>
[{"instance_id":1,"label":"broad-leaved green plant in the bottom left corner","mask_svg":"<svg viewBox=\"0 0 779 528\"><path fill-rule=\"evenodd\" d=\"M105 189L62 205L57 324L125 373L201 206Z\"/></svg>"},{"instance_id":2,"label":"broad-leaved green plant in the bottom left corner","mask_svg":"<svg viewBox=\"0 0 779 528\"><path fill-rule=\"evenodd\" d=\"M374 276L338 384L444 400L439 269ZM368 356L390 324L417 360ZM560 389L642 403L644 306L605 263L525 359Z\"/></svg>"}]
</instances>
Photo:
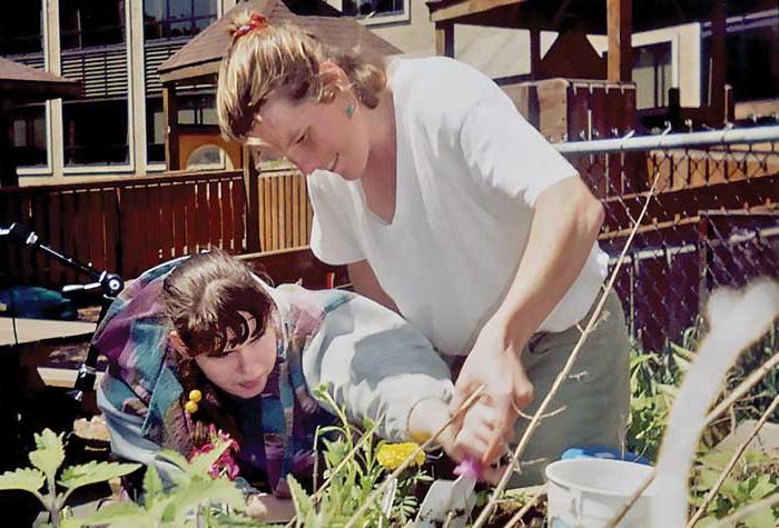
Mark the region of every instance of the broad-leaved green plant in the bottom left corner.
<instances>
[{"instance_id":1,"label":"broad-leaved green plant in the bottom left corner","mask_svg":"<svg viewBox=\"0 0 779 528\"><path fill-rule=\"evenodd\" d=\"M62 435L43 429L43 432L34 435L34 440L37 449L29 455L32 467L0 475L0 490L20 489L34 495L49 512L48 526L55 528L81 526L78 519L69 517L66 510L66 502L75 490L122 477L140 467L138 464L91 461L67 467L60 472L60 466L65 461ZM63 491L58 492L57 485L63 488ZM43 487L46 491L41 492Z\"/></svg>"}]
</instances>

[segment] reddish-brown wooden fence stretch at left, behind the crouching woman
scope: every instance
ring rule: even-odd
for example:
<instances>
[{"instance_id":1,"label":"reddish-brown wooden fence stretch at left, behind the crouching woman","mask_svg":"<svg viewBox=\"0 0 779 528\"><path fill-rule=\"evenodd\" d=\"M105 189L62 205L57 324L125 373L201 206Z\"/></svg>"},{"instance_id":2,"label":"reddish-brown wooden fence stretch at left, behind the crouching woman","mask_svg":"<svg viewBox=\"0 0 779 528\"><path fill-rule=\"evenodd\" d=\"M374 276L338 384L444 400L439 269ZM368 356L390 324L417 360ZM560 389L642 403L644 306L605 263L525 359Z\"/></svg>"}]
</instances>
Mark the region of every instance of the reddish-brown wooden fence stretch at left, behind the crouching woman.
<instances>
[{"instance_id":1,"label":"reddish-brown wooden fence stretch at left, behind the crouching woman","mask_svg":"<svg viewBox=\"0 0 779 528\"><path fill-rule=\"evenodd\" d=\"M22 222L42 243L126 278L208 248L250 250L248 217L239 171L0 189L1 226ZM37 251L3 243L0 278L62 285L75 275Z\"/></svg>"}]
</instances>

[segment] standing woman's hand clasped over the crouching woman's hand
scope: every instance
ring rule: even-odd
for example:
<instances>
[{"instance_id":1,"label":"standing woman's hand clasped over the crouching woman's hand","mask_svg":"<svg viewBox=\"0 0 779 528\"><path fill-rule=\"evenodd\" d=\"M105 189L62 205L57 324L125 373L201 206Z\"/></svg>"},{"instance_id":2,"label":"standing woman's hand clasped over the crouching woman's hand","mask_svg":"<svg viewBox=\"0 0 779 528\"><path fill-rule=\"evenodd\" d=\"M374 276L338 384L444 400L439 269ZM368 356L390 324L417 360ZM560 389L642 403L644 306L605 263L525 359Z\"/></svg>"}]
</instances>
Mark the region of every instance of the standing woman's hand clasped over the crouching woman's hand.
<instances>
[{"instance_id":1,"label":"standing woman's hand clasped over the crouching woman's hand","mask_svg":"<svg viewBox=\"0 0 779 528\"><path fill-rule=\"evenodd\" d=\"M504 444L514 436L519 410L533 399L533 383L527 379L519 350L507 345L496 326L487 323L476 339L454 387L450 406L456 412L480 387L483 397L458 420L455 451L480 457L484 466L505 451Z\"/></svg>"}]
</instances>

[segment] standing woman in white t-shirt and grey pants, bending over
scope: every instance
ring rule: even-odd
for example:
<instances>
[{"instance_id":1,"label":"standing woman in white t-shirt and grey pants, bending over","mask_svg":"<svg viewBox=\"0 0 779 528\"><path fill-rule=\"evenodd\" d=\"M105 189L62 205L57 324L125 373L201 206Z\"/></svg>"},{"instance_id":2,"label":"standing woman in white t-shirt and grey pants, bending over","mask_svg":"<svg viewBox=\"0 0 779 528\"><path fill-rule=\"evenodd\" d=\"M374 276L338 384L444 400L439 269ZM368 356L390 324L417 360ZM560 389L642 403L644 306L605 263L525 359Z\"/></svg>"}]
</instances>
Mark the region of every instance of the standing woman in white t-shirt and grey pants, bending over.
<instances>
[{"instance_id":1,"label":"standing woman in white t-shirt and grey pants, bending over","mask_svg":"<svg viewBox=\"0 0 779 528\"><path fill-rule=\"evenodd\" d=\"M550 390L601 291L602 206L466 64L398 58L384 68L257 13L234 23L217 92L224 133L308 175L313 251L346 265L356 291L462 363L453 407L485 386L457 442L494 461ZM540 481L570 446L623 440L628 338L615 295L572 373L552 404L563 410L542 421L514 484Z\"/></svg>"}]
</instances>

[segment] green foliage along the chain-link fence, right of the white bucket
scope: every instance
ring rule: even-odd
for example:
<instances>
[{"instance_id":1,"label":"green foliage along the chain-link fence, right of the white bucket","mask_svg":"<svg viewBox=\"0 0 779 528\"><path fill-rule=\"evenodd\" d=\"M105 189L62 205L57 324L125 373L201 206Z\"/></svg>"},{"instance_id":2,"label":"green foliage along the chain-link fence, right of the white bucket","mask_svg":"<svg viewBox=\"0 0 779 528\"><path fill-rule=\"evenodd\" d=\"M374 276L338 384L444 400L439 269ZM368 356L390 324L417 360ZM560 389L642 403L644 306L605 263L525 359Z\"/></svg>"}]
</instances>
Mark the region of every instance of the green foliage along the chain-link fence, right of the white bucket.
<instances>
[{"instance_id":1,"label":"green foliage along the chain-link fence, right of the white bucket","mask_svg":"<svg viewBox=\"0 0 779 528\"><path fill-rule=\"evenodd\" d=\"M680 345L670 343L662 353L644 352L638 346L631 351L631 414L627 447L654 460L664 434L670 409L682 382L702 325L689 328ZM726 390L739 385L750 371L766 362L779 345L773 327L762 339L745 351L728 376ZM709 425L703 431L699 456L690 479L690 505L699 507L723 471L733 450L718 444L743 420L758 418L779 390L779 372L769 372L745 398L737 401L730 415ZM739 508L779 491L779 462L761 451L748 450L708 506L697 526L707 526ZM765 509L745 520L748 528L779 526L779 509Z\"/></svg>"}]
</instances>

